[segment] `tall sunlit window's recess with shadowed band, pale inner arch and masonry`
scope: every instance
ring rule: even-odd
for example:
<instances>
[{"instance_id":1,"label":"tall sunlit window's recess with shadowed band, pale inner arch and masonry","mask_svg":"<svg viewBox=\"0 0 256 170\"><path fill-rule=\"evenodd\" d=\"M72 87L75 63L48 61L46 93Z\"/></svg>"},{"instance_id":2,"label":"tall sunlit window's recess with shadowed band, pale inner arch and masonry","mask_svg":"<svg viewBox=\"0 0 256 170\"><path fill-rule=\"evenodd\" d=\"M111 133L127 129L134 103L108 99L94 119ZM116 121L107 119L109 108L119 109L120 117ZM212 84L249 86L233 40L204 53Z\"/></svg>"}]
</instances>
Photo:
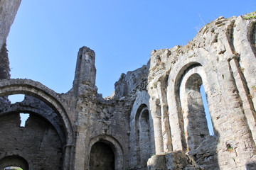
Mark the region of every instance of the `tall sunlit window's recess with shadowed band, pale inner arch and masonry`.
<instances>
[{"instance_id":1,"label":"tall sunlit window's recess with shadowed band, pale inner arch and masonry","mask_svg":"<svg viewBox=\"0 0 256 170\"><path fill-rule=\"evenodd\" d=\"M201 84L208 89L206 72L201 64L190 64L181 69L175 84L183 147L184 149L196 149L209 135L200 92Z\"/></svg>"}]
</instances>

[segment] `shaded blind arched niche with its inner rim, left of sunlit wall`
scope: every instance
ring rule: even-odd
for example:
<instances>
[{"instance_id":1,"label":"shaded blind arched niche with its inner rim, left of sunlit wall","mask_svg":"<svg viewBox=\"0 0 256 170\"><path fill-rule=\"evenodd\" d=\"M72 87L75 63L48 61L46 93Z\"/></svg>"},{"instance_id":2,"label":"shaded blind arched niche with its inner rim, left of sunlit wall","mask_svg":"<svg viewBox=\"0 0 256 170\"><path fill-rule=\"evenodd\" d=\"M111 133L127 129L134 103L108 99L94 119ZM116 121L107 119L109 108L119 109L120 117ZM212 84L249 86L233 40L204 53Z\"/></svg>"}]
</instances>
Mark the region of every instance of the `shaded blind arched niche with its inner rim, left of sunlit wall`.
<instances>
[{"instance_id":1,"label":"shaded blind arched niche with its inner rim, left of sunlit wall","mask_svg":"<svg viewBox=\"0 0 256 170\"><path fill-rule=\"evenodd\" d=\"M146 164L151 154L151 135L149 109L145 104L139 106L136 114L137 162Z\"/></svg>"}]
</instances>

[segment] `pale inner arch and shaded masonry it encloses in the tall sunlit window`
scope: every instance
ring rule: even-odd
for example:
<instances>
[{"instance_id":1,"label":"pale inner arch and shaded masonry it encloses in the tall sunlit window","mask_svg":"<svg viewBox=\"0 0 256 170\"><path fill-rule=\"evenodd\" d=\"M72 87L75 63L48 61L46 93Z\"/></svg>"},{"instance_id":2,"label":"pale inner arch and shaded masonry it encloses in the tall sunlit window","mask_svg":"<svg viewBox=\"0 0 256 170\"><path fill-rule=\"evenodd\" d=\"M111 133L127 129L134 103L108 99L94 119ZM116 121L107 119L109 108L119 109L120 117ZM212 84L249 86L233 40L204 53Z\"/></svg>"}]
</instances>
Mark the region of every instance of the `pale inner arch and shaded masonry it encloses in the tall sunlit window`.
<instances>
[{"instance_id":1,"label":"pale inner arch and shaded masonry it encloses in the tall sunlit window","mask_svg":"<svg viewBox=\"0 0 256 170\"><path fill-rule=\"evenodd\" d=\"M181 79L180 99L183 130L187 149L196 149L209 135L205 108L201 95L203 80L196 68L186 72ZM211 120L209 121L211 123Z\"/></svg>"}]
</instances>

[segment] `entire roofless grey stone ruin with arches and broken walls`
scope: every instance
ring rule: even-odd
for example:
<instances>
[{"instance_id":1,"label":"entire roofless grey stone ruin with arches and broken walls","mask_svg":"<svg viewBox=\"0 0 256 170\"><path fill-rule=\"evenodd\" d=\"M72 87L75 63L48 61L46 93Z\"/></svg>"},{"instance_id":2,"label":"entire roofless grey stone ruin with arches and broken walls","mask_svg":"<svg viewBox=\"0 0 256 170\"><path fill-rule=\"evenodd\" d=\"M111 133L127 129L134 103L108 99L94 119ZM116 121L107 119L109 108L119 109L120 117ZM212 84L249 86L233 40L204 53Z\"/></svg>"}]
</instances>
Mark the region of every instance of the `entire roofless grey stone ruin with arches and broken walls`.
<instances>
[{"instance_id":1,"label":"entire roofless grey stone ruin with arches and broken walls","mask_svg":"<svg viewBox=\"0 0 256 170\"><path fill-rule=\"evenodd\" d=\"M256 169L255 13L217 18L188 45L153 50L102 98L88 47L66 94L10 79L5 42L20 3L0 1L0 169ZM12 104L12 94L25 99ZM30 113L25 127L19 113Z\"/></svg>"}]
</instances>

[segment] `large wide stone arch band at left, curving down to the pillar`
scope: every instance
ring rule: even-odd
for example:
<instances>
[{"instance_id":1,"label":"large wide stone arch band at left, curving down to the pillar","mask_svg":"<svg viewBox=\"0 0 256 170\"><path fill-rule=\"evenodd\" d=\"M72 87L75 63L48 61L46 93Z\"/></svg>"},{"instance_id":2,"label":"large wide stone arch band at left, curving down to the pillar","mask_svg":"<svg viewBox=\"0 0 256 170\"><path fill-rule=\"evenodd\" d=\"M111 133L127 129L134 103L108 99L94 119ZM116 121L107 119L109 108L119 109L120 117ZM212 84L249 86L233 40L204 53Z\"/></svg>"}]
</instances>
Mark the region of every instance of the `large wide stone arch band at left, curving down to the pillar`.
<instances>
[{"instance_id":1,"label":"large wide stone arch band at left, curving down to the pillar","mask_svg":"<svg viewBox=\"0 0 256 170\"><path fill-rule=\"evenodd\" d=\"M41 101L45 102L50 108L60 115L63 124L65 126L66 135L66 147L64 156L64 169L69 169L73 162L70 162L72 157L72 151L74 145L73 129L68 118L68 114L65 108L60 103L60 95L55 93L55 91L48 89L41 83L28 79L9 79L0 81L0 96L9 96L11 94L26 94L28 96L33 96Z\"/></svg>"}]
</instances>

